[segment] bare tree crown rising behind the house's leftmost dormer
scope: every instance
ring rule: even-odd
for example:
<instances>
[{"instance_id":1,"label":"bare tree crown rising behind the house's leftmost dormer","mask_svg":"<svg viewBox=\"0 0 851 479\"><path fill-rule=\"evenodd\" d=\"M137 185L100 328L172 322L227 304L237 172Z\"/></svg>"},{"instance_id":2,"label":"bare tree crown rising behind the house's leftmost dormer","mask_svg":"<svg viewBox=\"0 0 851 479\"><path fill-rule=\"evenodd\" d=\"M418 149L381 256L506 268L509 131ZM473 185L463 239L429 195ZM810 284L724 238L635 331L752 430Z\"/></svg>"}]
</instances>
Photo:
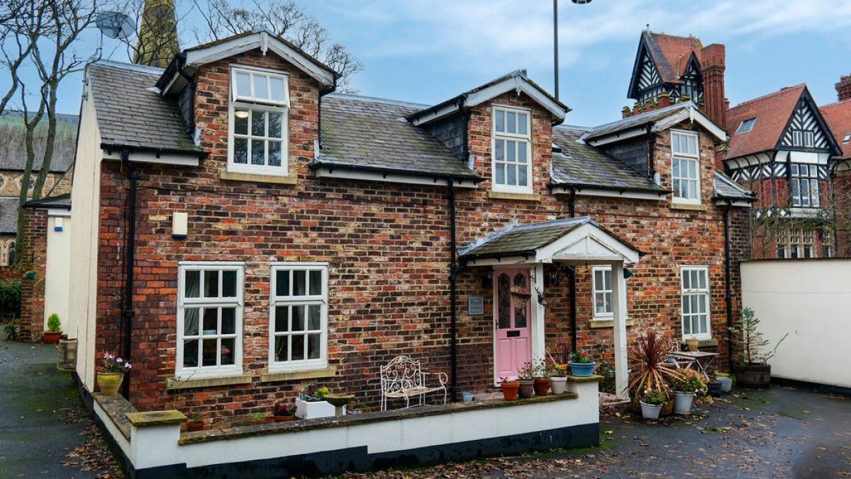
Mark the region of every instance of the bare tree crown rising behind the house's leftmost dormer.
<instances>
[{"instance_id":1,"label":"bare tree crown rising behind the house's leftmost dormer","mask_svg":"<svg viewBox=\"0 0 851 479\"><path fill-rule=\"evenodd\" d=\"M351 88L351 76L363 65L340 43L332 43L328 31L292 0L193 0L202 14L206 29L196 31L198 43L237 35L254 28L267 27L279 37L303 50L340 75L337 89L357 93Z\"/></svg>"}]
</instances>

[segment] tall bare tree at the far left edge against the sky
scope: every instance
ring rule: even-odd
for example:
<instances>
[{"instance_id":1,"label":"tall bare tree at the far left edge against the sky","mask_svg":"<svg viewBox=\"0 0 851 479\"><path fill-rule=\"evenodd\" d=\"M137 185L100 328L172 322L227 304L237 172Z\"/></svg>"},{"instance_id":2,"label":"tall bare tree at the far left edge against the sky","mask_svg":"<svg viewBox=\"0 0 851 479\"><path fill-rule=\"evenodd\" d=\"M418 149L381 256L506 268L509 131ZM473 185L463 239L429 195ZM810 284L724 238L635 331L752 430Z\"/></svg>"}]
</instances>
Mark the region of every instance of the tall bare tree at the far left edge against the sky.
<instances>
[{"instance_id":1,"label":"tall bare tree at the far left edge against the sky","mask_svg":"<svg viewBox=\"0 0 851 479\"><path fill-rule=\"evenodd\" d=\"M83 68L84 60L77 57L73 48L83 29L94 22L95 4L87 0L13 0L14 14L4 15L0 10L0 50L3 64L9 69L12 85L0 104L2 112L9 100L18 92L26 129L26 163L21 180L18 205L18 235L15 238L16 258L20 258L23 247L24 214L36 148L34 132L46 115L47 134L32 198L43 195L45 180L50 170L56 139L56 101L62 80L74 71ZM37 73L33 88L20 77L20 69L31 66ZM31 81L30 81L31 82ZM32 92L36 92L32 94ZM32 101L37 101L33 108Z\"/></svg>"}]
</instances>

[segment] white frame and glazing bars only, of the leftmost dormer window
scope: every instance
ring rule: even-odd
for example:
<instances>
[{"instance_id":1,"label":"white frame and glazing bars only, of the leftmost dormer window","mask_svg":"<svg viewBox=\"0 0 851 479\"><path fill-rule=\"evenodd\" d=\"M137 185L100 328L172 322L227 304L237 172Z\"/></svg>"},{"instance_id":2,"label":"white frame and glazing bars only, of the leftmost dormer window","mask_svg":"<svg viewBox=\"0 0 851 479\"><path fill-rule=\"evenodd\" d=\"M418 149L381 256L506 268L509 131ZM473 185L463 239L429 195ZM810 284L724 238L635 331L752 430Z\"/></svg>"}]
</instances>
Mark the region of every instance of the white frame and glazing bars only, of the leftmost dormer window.
<instances>
[{"instance_id":1,"label":"white frame and glazing bars only, of the leftmost dormer window","mask_svg":"<svg viewBox=\"0 0 851 479\"><path fill-rule=\"evenodd\" d=\"M254 90L254 76L264 76L267 78L282 79L284 88L284 99L260 99L251 95L245 96L237 94L237 73L248 73L249 75L252 75L252 77L249 77L249 83L251 84L252 91ZM275 71L258 67L246 67L241 65L231 65L228 85L230 88L230 94L228 95L230 101L228 102L227 112L227 171L242 174L289 176L289 75L283 71ZM266 85L267 89L271 88L271 82L268 79L266 81ZM249 117L247 118L248 132L246 134L235 133L237 110L250 111ZM266 115L266 121L264 122L265 131L264 135L262 136L254 136L251 133L251 119L253 118L255 112L262 112L264 115ZM281 138L279 139L281 144L280 166L268 165L268 145L270 141L268 120L269 113L278 113L281 115ZM236 163L235 161L234 145L237 137L246 138L248 140L247 163ZM251 163L250 145L252 140L264 140L265 142L264 164L262 165L255 165ZM277 141L278 139L271 138L271 140Z\"/></svg>"}]
</instances>

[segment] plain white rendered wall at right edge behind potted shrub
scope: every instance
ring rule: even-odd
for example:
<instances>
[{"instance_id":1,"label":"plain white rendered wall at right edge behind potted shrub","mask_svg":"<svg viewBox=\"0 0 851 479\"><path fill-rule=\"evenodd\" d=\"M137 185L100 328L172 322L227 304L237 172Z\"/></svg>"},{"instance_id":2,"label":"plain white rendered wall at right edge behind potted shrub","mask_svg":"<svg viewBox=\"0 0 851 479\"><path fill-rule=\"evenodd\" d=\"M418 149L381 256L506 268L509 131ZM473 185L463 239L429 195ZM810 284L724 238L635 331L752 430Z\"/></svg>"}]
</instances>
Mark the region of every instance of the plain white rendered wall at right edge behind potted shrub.
<instances>
[{"instance_id":1,"label":"plain white rendered wall at right edge behind potted shrub","mask_svg":"<svg viewBox=\"0 0 851 479\"><path fill-rule=\"evenodd\" d=\"M771 375L851 387L851 259L755 260L741 264L742 304L777 349Z\"/></svg>"}]
</instances>

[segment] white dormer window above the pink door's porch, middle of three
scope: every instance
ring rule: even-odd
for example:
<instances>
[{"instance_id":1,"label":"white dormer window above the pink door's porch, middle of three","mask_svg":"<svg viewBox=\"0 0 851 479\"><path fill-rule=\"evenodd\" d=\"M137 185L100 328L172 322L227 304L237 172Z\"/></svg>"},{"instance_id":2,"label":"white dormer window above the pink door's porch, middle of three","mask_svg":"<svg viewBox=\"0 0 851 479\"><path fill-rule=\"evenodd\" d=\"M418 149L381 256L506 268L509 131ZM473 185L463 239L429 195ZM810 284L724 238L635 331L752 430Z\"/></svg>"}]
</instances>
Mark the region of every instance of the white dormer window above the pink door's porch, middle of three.
<instances>
[{"instance_id":1,"label":"white dormer window above the pink door's porch, middle of three","mask_svg":"<svg viewBox=\"0 0 851 479\"><path fill-rule=\"evenodd\" d=\"M494 105L494 191L532 192L530 112Z\"/></svg>"}]
</instances>

